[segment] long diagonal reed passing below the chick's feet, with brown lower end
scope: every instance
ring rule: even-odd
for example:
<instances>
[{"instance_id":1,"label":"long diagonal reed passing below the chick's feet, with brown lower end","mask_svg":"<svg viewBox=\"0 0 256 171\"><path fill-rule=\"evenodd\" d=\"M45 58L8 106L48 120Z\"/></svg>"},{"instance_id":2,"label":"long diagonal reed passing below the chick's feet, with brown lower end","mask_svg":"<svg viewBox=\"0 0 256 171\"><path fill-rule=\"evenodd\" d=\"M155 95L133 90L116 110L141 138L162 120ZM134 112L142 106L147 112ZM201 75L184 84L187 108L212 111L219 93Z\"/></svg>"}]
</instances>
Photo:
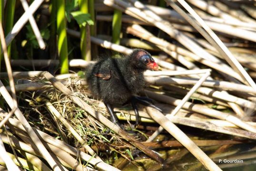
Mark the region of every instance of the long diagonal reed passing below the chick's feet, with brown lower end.
<instances>
[{"instance_id":1,"label":"long diagonal reed passing below the chick's feet, with brown lower end","mask_svg":"<svg viewBox=\"0 0 256 171\"><path fill-rule=\"evenodd\" d=\"M142 152L146 153L149 157L154 159L155 161L162 162L162 158L156 154L155 152L149 150L144 145L142 145L140 142L138 142L136 139L134 139L131 135L128 135L125 131L123 131L119 126L109 121L105 116L98 113L97 111L93 110L89 104L85 103L83 100L81 100L79 97L72 95L73 93L63 84L61 84L54 76L52 76L49 72L44 72L44 77L48 79L59 91L67 95L73 102L78 104L82 109L87 111L91 116L96 118L99 122L106 125L108 128L110 128L115 133L118 133L122 138L133 144L135 147L140 149Z\"/></svg>"}]
</instances>

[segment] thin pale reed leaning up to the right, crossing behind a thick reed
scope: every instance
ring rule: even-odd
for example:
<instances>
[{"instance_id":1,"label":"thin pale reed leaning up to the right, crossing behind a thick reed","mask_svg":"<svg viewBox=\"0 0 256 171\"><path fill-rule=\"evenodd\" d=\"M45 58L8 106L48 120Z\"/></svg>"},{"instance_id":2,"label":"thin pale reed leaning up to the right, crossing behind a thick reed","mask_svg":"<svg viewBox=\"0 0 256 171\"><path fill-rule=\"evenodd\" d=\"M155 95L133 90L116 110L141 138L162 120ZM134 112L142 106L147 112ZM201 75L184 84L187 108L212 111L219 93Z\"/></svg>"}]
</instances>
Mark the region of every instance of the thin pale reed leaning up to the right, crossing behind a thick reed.
<instances>
[{"instance_id":1,"label":"thin pale reed leaning up to the right, crossing behind a thick reed","mask_svg":"<svg viewBox=\"0 0 256 171\"><path fill-rule=\"evenodd\" d=\"M199 86L202 85L202 83L207 79L208 76L211 75L210 71L207 71L204 76L202 76L202 78L200 78L198 80L198 82L189 90L189 92L187 93L187 95L185 95L185 97L183 97L183 99L181 100L181 102L176 106L176 108L172 111L171 114L167 114L166 117L170 117L170 116L175 116L178 111L182 108L182 106L189 100L189 98L191 97L191 95L193 95L193 93L197 90L197 88L199 88ZM147 142L151 142L153 141L158 135L159 133L161 133L164 130L163 127L159 127L157 131L155 131L147 140Z\"/></svg>"}]
</instances>

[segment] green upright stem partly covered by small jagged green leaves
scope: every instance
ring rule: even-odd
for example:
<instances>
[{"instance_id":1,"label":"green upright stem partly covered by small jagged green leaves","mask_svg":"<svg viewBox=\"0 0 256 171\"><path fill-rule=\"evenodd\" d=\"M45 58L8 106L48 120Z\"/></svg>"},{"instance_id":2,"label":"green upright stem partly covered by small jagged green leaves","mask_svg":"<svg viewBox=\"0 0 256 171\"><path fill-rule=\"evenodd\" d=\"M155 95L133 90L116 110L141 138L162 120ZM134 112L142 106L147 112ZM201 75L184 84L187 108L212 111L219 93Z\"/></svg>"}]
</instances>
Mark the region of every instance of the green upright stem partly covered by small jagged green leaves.
<instances>
[{"instance_id":1,"label":"green upright stem partly covered by small jagged green leaves","mask_svg":"<svg viewBox=\"0 0 256 171\"><path fill-rule=\"evenodd\" d=\"M88 0L79 0L79 8L83 13L89 13L89 3ZM80 41L80 49L81 49L81 57L84 60L91 60L91 49L90 49L90 28L89 25L80 26L81 32L81 41Z\"/></svg>"}]
</instances>

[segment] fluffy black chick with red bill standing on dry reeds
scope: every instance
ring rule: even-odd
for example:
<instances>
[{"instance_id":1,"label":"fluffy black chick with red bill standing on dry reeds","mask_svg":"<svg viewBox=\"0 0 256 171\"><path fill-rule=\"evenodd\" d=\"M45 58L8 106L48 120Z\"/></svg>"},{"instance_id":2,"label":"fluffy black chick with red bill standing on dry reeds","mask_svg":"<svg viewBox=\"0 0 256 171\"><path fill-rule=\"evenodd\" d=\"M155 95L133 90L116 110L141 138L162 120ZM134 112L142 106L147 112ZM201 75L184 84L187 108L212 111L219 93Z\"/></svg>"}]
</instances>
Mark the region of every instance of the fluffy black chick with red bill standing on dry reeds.
<instances>
[{"instance_id":1,"label":"fluffy black chick with red bill standing on dry reeds","mask_svg":"<svg viewBox=\"0 0 256 171\"><path fill-rule=\"evenodd\" d=\"M158 64L147 51L134 49L126 57L102 59L87 70L89 89L94 97L103 100L113 123L119 125L112 108L113 104L131 102L136 114L136 125L138 125L137 103L161 111L151 103L151 99L135 96L145 85L143 73L148 69L158 70Z\"/></svg>"}]
</instances>

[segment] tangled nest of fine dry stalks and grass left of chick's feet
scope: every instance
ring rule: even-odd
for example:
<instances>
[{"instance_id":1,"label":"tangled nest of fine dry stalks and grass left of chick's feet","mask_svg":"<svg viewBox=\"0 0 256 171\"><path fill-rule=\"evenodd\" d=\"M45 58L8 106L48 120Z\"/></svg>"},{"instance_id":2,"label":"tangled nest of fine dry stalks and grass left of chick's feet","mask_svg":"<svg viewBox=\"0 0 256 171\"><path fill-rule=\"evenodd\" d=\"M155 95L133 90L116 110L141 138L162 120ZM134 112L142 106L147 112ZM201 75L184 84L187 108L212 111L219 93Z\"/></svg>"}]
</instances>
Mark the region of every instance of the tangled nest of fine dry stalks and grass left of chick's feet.
<instances>
[{"instance_id":1,"label":"tangled nest of fine dry stalks and grass left of chick's feet","mask_svg":"<svg viewBox=\"0 0 256 171\"><path fill-rule=\"evenodd\" d=\"M111 152L117 152L122 156L127 156L127 159L129 158L126 149L129 149L129 151L135 149L131 144L125 142L118 134L113 133L91 117L70 100L67 95L48 85L47 82L42 82L40 79L30 79L29 81L47 85L44 90L20 93L20 108L34 127L80 150L85 150L82 146L87 144L97 153L101 151L100 154L103 156L109 157ZM89 98L87 85L78 84L80 81L78 77L69 78L66 80L66 86L73 92L73 95L82 99L100 114L108 117L108 112L104 106L98 100ZM52 104L71 127L79 133L84 140L83 144L74 137L62 122L59 122L58 118L50 112L46 103ZM102 152L102 150L107 152Z\"/></svg>"}]
</instances>

